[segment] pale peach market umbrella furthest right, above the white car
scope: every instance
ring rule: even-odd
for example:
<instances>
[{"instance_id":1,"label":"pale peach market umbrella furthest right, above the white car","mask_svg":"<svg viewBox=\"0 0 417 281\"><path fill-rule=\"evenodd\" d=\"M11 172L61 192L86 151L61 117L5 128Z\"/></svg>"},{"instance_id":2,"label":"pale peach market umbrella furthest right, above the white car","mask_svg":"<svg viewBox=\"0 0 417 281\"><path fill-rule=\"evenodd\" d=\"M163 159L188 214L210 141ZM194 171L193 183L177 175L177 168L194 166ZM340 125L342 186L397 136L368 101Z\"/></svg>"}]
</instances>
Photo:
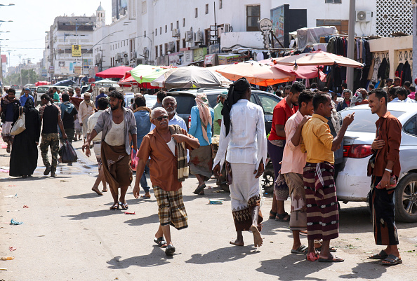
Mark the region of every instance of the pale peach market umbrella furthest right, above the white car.
<instances>
[{"instance_id":1,"label":"pale peach market umbrella furthest right, above the white car","mask_svg":"<svg viewBox=\"0 0 417 281\"><path fill-rule=\"evenodd\" d=\"M278 57L273 60L277 62L277 64L294 66L338 64L340 67L364 67L364 64L351 60L348 57L343 57L343 55L335 55L322 51L289 55L288 57Z\"/></svg>"}]
</instances>

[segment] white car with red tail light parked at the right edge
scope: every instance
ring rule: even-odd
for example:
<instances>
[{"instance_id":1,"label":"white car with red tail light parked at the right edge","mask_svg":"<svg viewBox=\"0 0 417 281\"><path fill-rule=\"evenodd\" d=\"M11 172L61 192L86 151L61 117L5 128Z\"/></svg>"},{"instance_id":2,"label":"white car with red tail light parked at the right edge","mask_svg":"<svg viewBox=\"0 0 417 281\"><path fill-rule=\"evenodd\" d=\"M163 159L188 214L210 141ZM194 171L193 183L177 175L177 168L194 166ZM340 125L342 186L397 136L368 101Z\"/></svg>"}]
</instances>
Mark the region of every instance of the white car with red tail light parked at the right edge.
<instances>
[{"instance_id":1,"label":"white car with red tail light parked at the right edge","mask_svg":"<svg viewBox=\"0 0 417 281\"><path fill-rule=\"evenodd\" d=\"M417 105L413 103L388 103L388 111L402 123L399 161L401 173L395 191L395 217L398 221L417 221ZM343 140L343 167L336 179L338 200L366 201L371 177L366 176L371 144L376 137L376 114L371 114L368 104L340 111L342 117L355 112Z\"/></svg>"}]
</instances>

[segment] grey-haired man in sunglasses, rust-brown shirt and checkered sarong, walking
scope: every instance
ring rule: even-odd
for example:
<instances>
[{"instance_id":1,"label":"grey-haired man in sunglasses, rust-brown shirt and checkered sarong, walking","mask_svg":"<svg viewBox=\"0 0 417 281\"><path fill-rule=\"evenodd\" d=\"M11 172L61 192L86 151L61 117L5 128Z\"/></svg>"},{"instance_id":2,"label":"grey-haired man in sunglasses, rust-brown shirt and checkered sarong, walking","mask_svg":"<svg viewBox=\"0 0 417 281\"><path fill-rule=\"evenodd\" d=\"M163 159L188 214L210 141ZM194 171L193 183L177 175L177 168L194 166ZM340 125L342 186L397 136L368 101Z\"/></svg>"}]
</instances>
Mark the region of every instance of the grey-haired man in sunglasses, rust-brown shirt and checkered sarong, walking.
<instances>
[{"instance_id":1,"label":"grey-haired man in sunglasses, rust-brown shirt and checkered sarong, walking","mask_svg":"<svg viewBox=\"0 0 417 281\"><path fill-rule=\"evenodd\" d=\"M159 228L154 242L173 255L170 224L178 230L188 227L181 182L188 177L186 149L197 149L199 141L178 125L168 125L168 113L156 108L151 113L155 129L143 137L138 151L136 174L142 174L150 158L150 178L158 203ZM139 197L140 177L136 177L133 196Z\"/></svg>"}]
</instances>

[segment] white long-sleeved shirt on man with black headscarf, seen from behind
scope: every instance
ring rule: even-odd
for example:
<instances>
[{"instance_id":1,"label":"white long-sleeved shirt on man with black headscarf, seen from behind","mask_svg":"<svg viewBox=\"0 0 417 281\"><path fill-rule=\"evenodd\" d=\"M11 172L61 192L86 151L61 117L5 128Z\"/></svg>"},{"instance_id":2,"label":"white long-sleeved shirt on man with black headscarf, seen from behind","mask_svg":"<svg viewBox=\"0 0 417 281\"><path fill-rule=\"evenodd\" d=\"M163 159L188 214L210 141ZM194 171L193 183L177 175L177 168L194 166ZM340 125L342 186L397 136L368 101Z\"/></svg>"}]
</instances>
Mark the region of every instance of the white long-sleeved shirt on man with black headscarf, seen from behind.
<instances>
[{"instance_id":1,"label":"white long-sleeved shirt on man with black headscarf, seen from behind","mask_svg":"<svg viewBox=\"0 0 417 281\"><path fill-rule=\"evenodd\" d=\"M256 164L256 168L260 160L263 160L265 165L267 139L262 107L249 100L238 100L230 111L229 135L225 134L226 128L222 121L219 148L213 167L218 163L222 166L225 159L229 163Z\"/></svg>"}]
</instances>

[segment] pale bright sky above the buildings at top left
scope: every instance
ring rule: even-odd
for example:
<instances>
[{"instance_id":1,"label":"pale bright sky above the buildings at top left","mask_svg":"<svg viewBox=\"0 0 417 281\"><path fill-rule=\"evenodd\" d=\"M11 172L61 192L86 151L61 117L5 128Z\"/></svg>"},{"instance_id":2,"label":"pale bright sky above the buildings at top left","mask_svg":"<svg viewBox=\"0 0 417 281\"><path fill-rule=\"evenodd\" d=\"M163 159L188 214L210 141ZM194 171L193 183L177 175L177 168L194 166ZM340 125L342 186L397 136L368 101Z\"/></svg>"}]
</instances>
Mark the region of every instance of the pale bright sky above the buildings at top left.
<instances>
[{"instance_id":1,"label":"pale bright sky above the buildings at top left","mask_svg":"<svg viewBox=\"0 0 417 281\"><path fill-rule=\"evenodd\" d=\"M112 19L112 1L102 0L102 7L106 11L106 23ZM0 6L1 54L9 56L6 50L11 50L11 66L21 59L31 59L39 62L45 48L45 32L53 24L55 17L60 15L95 15L100 6L96 0L0 0L0 4L15 4L15 6ZM8 33L4 33L7 32ZM3 40L8 39L8 40Z\"/></svg>"}]
</instances>

